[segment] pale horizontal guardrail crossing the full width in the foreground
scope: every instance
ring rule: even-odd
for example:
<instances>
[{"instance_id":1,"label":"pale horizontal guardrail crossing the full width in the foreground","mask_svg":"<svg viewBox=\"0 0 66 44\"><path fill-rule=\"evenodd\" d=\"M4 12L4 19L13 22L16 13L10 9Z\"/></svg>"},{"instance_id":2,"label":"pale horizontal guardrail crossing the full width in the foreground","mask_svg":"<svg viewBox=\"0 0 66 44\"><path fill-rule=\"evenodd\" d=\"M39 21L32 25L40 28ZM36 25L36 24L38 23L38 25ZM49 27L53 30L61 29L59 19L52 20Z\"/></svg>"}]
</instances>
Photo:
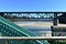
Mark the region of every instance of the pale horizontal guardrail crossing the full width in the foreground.
<instances>
[{"instance_id":1,"label":"pale horizontal guardrail crossing the full width in the foreground","mask_svg":"<svg viewBox=\"0 0 66 44\"><path fill-rule=\"evenodd\" d=\"M0 36L0 40L6 40L7 44L9 44L9 41L35 41L35 40L66 40L66 36L33 36L33 37L25 37L25 36Z\"/></svg>"}]
</instances>

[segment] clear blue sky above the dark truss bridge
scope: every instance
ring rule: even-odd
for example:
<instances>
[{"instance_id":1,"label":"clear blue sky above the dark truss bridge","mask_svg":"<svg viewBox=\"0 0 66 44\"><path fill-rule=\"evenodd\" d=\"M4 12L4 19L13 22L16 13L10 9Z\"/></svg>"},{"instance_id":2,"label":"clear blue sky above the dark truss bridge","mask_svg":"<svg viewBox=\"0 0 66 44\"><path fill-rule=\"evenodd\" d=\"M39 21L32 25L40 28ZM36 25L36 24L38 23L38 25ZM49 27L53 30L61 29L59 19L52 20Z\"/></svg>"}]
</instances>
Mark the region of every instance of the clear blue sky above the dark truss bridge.
<instances>
[{"instance_id":1,"label":"clear blue sky above the dark truss bridge","mask_svg":"<svg viewBox=\"0 0 66 44\"><path fill-rule=\"evenodd\" d=\"M0 11L66 11L66 0L0 0Z\"/></svg>"}]
</instances>

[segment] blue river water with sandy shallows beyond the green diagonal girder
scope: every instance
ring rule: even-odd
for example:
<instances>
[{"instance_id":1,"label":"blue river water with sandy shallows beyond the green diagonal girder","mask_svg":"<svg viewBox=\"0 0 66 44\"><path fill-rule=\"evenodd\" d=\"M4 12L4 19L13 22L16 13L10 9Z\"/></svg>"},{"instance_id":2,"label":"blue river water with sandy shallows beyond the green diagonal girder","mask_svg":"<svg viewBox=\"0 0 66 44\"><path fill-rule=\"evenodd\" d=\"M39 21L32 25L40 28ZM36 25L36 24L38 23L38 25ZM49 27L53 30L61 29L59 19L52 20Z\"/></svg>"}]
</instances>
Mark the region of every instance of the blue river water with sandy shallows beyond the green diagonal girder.
<instances>
[{"instance_id":1,"label":"blue river water with sandy shallows beyond the green diagonal girder","mask_svg":"<svg viewBox=\"0 0 66 44\"><path fill-rule=\"evenodd\" d=\"M51 26L53 25L52 21L23 21L23 22L14 22L21 28L30 31L31 33L37 36L46 36L52 34Z\"/></svg>"}]
</instances>

